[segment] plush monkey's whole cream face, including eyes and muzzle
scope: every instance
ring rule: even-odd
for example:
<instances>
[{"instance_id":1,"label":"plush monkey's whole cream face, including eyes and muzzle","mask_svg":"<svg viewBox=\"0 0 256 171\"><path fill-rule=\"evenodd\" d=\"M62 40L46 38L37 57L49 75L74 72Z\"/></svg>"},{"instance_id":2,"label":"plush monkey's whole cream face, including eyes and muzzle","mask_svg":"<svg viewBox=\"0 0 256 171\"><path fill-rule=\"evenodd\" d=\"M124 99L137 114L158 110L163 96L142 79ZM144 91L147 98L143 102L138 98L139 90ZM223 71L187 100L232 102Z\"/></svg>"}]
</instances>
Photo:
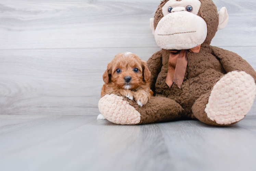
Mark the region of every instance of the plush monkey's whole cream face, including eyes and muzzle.
<instances>
[{"instance_id":1,"label":"plush monkey's whole cream face, including eyes and muzzle","mask_svg":"<svg viewBox=\"0 0 256 171\"><path fill-rule=\"evenodd\" d=\"M164 17L155 29L155 40L159 47L191 49L202 44L207 36L207 24L197 15L199 0L169 0L162 8Z\"/></svg>"}]
</instances>

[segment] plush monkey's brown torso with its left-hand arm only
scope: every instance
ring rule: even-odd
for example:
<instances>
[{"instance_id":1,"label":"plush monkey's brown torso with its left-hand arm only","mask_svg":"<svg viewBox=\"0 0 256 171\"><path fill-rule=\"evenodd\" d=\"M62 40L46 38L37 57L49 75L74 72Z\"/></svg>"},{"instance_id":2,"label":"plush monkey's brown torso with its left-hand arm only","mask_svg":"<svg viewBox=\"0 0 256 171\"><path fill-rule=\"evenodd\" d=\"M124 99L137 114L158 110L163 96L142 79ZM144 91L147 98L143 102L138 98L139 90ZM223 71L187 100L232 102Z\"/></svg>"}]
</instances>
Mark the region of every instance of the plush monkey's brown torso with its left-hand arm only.
<instances>
[{"instance_id":1,"label":"plush monkey's brown torso with its left-hand arm only","mask_svg":"<svg viewBox=\"0 0 256 171\"><path fill-rule=\"evenodd\" d=\"M179 103L184 109L184 117L194 118L191 108L195 100L210 91L216 80L226 74L226 71L217 57L210 53L209 47L202 47L199 53L187 52L188 66L181 89L176 84L169 88L165 82L169 54L170 52L162 49L149 59L149 69L154 73L151 74L151 89L155 96L167 97ZM156 60L159 61L157 67L153 62ZM161 70L159 73L158 69Z\"/></svg>"}]
</instances>

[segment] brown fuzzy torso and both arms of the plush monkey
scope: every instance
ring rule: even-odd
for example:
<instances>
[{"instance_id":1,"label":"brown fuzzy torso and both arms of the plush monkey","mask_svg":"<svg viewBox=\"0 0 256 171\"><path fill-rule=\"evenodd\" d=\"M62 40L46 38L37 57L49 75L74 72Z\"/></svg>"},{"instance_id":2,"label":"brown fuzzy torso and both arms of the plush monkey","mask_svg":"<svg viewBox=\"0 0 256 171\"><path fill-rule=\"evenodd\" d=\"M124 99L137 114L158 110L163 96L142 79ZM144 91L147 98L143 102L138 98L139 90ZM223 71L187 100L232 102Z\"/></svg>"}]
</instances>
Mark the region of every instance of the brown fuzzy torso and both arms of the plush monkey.
<instances>
[{"instance_id":1,"label":"brown fuzzy torso and both arms of the plush monkey","mask_svg":"<svg viewBox=\"0 0 256 171\"><path fill-rule=\"evenodd\" d=\"M221 55L215 56L220 51L222 52ZM188 65L182 87L179 89L176 84L172 84L171 88L169 88L165 82L169 54L170 52L162 49L148 60L148 67L151 71L151 89L156 97L167 97L177 102L183 109L180 114L181 118L196 118L192 111L195 101L202 95L208 94L210 96L210 92L216 82L227 72L246 71L256 80L256 72L239 55L206 45L201 47L199 53L187 52ZM222 55L225 54L227 54L225 60L221 60ZM231 58L228 59L228 56ZM225 68L221 64L222 61L226 62ZM230 63L228 64L227 61ZM161 101L162 99L157 103L161 103ZM207 104L207 102L205 103ZM195 105L194 108L196 107ZM172 117L170 116L168 119L172 119Z\"/></svg>"}]
</instances>

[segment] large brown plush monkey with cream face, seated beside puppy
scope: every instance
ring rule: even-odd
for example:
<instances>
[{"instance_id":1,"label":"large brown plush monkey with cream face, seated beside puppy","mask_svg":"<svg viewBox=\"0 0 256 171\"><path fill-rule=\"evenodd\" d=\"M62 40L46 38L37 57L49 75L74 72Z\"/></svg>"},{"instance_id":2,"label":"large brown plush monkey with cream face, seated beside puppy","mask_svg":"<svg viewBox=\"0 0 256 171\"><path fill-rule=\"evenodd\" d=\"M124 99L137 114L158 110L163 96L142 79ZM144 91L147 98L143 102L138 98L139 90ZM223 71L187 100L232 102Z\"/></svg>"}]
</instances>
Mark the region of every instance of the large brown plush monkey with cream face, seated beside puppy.
<instances>
[{"instance_id":1,"label":"large brown plush monkey with cream face, seated beside puppy","mask_svg":"<svg viewBox=\"0 0 256 171\"><path fill-rule=\"evenodd\" d=\"M196 118L215 126L243 119L256 95L256 72L239 55L210 46L226 27L226 8L212 0L163 0L150 19L161 51L147 62L155 97L140 107L113 92L99 101L102 115L117 124Z\"/></svg>"}]
</instances>

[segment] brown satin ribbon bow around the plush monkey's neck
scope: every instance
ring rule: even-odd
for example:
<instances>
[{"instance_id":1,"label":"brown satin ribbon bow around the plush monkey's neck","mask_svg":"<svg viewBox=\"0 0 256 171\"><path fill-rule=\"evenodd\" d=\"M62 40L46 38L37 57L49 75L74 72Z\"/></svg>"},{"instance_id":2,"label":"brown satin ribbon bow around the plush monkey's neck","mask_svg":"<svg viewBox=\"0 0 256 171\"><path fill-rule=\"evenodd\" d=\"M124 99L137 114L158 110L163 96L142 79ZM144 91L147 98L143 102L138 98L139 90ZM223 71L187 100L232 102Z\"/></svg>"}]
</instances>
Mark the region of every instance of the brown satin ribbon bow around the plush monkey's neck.
<instances>
[{"instance_id":1,"label":"brown satin ribbon bow around the plush monkey's neck","mask_svg":"<svg viewBox=\"0 0 256 171\"><path fill-rule=\"evenodd\" d=\"M199 53L201 45L189 49L191 53ZM171 88L172 83L175 83L180 89L185 77L185 72L188 64L187 50L168 50L169 66L166 76L166 84Z\"/></svg>"}]
</instances>

